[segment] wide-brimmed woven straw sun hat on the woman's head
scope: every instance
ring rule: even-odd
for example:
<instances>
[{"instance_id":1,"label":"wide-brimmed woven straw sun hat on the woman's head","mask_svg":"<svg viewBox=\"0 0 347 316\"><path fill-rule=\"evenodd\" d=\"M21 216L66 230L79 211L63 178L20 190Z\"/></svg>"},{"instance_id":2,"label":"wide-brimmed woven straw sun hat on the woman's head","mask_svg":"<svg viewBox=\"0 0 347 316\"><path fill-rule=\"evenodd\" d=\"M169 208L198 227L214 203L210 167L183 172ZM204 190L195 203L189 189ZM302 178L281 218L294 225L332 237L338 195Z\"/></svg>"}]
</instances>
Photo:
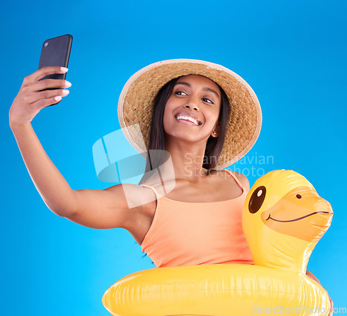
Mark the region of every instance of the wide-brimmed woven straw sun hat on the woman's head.
<instances>
[{"instance_id":1,"label":"wide-brimmed woven straw sun hat on the woman's head","mask_svg":"<svg viewBox=\"0 0 347 316\"><path fill-rule=\"evenodd\" d=\"M221 170L246 155L260 134L262 112L253 89L236 73L203 60L164 60L137 71L126 82L118 103L118 117L126 139L144 157L155 96L170 80L187 75L210 78L226 92L230 116L226 139L215 169Z\"/></svg>"}]
</instances>

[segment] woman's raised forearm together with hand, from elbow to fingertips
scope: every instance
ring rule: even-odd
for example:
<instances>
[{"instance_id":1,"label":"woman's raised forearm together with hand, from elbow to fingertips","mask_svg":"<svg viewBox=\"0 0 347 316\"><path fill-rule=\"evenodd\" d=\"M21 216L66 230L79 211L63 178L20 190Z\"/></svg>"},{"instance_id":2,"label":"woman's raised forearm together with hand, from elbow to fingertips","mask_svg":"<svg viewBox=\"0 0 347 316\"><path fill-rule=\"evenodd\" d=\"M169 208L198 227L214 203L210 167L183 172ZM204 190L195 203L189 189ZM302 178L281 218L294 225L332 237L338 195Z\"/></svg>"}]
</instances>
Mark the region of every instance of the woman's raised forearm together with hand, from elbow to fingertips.
<instances>
[{"instance_id":1,"label":"woman's raised forearm together with hand, from elbow to fingertips","mask_svg":"<svg viewBox=\"0 0 347 316\"><path fill-rule=\"evenodd\" d=\"M67 96L69 91L63 88L71 86L67 80L40 79L51 73L66 71L62 67L43 67L24 78L8 113L10 128L28 173L47 207L59 216L64 216L68 211L73 200L72 190L44 152L31 121L43 107L53 105ZM48 88L58 89L44 90Z\"/></svg>"}]
</instances>

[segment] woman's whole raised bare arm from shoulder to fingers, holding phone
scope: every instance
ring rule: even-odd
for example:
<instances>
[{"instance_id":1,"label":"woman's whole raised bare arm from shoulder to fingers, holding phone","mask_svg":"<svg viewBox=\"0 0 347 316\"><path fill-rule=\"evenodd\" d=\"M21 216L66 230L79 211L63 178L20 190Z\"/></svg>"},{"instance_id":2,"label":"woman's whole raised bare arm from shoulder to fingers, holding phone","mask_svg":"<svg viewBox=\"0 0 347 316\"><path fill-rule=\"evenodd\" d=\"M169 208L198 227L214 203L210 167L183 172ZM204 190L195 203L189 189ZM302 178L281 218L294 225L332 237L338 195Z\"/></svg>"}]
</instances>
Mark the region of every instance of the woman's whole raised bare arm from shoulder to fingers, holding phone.
<instances>
[{"instance_id":1,"label":"woman's whole raised bare arm from shoulder to fingers, holding phone","mask_svg":"<svg viewBox=\"0 0 347 316\"><path fill-rule=\"evenodd\" d=\"M92 228L129 228L134 216L153 200L153 193L149 192L151 190L124 184L105 190L75 191L37 139L31 125L33 117L43 107L56 103L55 96L64 96L62 88L67 87L66 80L38 80L48 73L59 71L62 73L60 67L44 67L26 77L10 108L10 128L28 173L46 206L58 216ZM60 89L41 91L50 87Z\"/></svg>"}]
</instances>

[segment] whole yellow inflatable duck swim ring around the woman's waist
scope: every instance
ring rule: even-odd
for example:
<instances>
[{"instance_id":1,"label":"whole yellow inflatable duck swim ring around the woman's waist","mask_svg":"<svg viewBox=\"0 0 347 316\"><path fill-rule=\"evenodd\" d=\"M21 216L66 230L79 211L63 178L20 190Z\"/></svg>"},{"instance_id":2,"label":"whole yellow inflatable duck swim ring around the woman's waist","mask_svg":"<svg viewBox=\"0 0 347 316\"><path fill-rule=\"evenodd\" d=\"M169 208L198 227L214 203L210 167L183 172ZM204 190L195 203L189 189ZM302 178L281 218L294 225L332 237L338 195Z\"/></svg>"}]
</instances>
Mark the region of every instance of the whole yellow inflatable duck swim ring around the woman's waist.
<instances>
[{"instance_id":1,"label":"whole yellow inflatable duck swim ring around the woman's waist","mask_svg":"<svg viewBox=\"0 0 347 316\"><path fill-rule=\"evenodd\" d=\"M328 294L305 272L331 219L330 203L305 177L292 170L271 171L257 179L242 211L254 265L135 272L105 292L103 305L115 316L328 315Z\"/></svg>"}]
</instances>

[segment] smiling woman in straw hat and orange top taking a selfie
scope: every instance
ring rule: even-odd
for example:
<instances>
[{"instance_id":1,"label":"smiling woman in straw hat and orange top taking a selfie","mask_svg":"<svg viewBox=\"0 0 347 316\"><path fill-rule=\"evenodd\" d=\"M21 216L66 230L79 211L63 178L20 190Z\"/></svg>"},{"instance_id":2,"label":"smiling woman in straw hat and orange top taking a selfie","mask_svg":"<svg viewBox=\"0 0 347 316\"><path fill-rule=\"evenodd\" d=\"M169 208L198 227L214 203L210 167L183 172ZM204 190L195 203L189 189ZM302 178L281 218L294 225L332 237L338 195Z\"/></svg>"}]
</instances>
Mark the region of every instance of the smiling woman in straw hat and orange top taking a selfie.
<instances>
[{"instance_id":1,"label":"smiling woman in straw hat and orange top taking a selfie","mask_svg":"<svg viewBox=\"0 0 347 316\"><path fill-rule=\"evenodd\" d=\"M229 69L198 60L168 60L138 71L119 98L119 119L130 143L146 152L141 185L72 190L31 126L40 109L71 86L40 78L66 71L44 67L24 78L9 112L47 207L87 227L127 229L158 267L253 264L241 226L248 179L220 170L243 157L259 135L260 105L251 87ZM53 87L59 89L42 91Z\"/></svg>"}]
</instances>

